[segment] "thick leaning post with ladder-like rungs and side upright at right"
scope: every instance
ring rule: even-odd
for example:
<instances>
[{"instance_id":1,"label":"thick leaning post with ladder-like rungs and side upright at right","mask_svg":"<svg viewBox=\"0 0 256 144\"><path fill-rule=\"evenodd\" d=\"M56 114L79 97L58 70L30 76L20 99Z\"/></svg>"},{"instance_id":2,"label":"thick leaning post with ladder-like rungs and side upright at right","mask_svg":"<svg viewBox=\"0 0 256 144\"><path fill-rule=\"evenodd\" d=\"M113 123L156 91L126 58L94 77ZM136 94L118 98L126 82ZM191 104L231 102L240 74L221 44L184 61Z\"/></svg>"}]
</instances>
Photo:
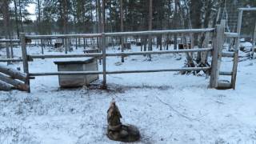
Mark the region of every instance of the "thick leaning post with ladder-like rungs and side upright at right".
<instances>
[{"instance_id":1,"label":"thick leaning post with ladder-like rungs and side upright at right","mask_svg":"<svg viewBox=\"0 0 256 144\"><path fill-rule=\"evenodd\" d=\"M216 32L213 43L213 59L212 69L210 74L210 87L217 89L235 89L235 82L237 77L238 69L238 45L239 45L239 34L238 33L225 33L226 20L222 20L220 25L216 26ZM222 52L224 39L235 38L234 52ZM220 70L222 57L233 58L233 67L231 71ZM230 82L224 82L219 80L220 75L230 76Z\"/></svg>"}]
</instances>

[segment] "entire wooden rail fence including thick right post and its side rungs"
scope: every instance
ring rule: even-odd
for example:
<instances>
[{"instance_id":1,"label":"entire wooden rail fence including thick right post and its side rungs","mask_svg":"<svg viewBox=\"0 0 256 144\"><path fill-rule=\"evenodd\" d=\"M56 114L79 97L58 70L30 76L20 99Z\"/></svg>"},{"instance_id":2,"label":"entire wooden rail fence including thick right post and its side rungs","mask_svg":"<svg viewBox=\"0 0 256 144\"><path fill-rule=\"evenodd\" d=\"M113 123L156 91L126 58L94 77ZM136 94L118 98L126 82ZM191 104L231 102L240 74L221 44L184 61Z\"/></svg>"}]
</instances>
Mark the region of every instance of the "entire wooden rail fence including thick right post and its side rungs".
<instances>
[{"instance_id":1,"label":"entire wooden rail fence including thick right post and its side rungs","mask_svg":"<svg viewBox=\"0 0 256 144\"><path fill-rule=\"evenodd\" d=\"M157 34L195 34L195 33L213 33L214 43L213 48L197 48L186 50L161 50L161 51L141 51L141 52L118 52L118 53L106 53L106 37L116 36L142 36L142 35L157 35ZM30 85L30 78L37 76L49 76L49 75L80 75L80 74L102 74L102 86L106 87L106 74L130 74L130 73L153 73L153 72L167 72L167 71L194 71L194 70L210 70L210 88L217 88L218 86L226 86L218 82L218 76L221 75L234 75L236 71L222 72L219 70L222 57L232 57L236 52L223 53L222 46L224 44L224 37L238 37L236 33L225 33L225 23L216 26L216 28L208 29L191 29L191 30L151 30L151 31L137 31L137 32L117 32L117 33L102 33L102 34L58 34L58 35L25 35L21 34L22 45L22 59L0 59L0 62L8 61L20 61L23 62L24 73L28 75L25 80L26 85ZM46 55L46 54L27 54L26 42L32 39L54 39L54 38L101 38L102 39L102 51L92 54L58 54L58 55ZM158 70L106 70L106 57L114 56L130 56L130 55L145 55L145 54L177 54L177 53L194 53L194 52L211 52L213 56L212 65L206 67L186 67L177 69L158 69ZM95 57L102 59L102 71L61 71L61 72L41 72L30 73L29 61L33 61L35 58L84 58ZM230 85L229 85L230 86ZM228 86L226 86L228 87Z\"/></svg>"}]
</instances>

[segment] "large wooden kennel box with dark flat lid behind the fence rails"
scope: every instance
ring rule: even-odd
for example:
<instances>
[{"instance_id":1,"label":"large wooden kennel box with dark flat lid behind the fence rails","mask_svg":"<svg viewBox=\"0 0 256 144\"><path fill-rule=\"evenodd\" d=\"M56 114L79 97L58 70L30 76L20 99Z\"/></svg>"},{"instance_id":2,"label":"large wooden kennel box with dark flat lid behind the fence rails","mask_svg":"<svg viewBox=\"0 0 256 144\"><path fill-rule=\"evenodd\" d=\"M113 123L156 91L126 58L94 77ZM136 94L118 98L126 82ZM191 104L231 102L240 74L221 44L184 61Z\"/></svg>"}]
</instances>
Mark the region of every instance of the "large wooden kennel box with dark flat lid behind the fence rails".
<instances>
[{"instance_id":1,"label":"large wooden kennel box with dark flat lid behind the fence rails","mask_svg":"<svg viewBox=\"0 0 256 144\"><path fill-rule=\"evenodd\" d=\"M54 62L58 65L58 71L98 71L97 58L83 58L59 60ZM59 75L58 82L63 88L88 86L90 82L98 79L98 74L88 75Z\"/></svg>"}]
</instances>

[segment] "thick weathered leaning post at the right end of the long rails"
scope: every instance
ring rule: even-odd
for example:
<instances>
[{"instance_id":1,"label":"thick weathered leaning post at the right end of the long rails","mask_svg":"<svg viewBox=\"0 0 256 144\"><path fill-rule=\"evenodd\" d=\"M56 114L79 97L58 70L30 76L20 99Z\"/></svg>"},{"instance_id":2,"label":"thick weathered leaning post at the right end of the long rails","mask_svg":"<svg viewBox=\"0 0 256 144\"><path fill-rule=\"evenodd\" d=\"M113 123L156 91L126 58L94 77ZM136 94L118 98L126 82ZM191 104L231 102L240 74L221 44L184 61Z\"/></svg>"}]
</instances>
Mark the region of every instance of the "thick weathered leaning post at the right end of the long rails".
<instances>
[{"instance_id":1,"label":"thick weathered leaning post at the right end of the long rails","mask_svg":"<svg viewBox=\"0 0 256 144\"><path fill-rule=\"evenodd\" d=\"M219 69L222 61L222 48L224 44L224 32L226 21L222 20L221 25L216 26L216 33L213 43L213 58L211 63L210 88L218 87Z\"/></svg>"}]
</instances>

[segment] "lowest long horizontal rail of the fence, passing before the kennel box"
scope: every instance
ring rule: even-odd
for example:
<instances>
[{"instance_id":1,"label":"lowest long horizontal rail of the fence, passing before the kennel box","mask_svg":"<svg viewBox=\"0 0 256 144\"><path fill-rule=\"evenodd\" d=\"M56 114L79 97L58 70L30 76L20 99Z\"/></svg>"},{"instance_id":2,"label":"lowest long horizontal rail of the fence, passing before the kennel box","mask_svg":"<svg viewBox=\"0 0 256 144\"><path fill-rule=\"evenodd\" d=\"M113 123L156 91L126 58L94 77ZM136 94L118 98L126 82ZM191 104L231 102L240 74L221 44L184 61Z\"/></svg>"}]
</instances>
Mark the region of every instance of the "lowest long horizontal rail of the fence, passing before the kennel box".
<instances>
[{"instance_id":1,"label":"lowest long horizontal rail of the fence, passing before the kennel box","mask_svg":"<svg viewBox=\"0 0 256 144\"><path fill-rule=\"evenodd\" d=\"M161 69L161 70L120 70L120 71L106 71L106 74L130 74L130 73L155 73L155 72L169 72L169 71L198 71L210 70L211 67L187 67L179 69ZM86 74L103 74L102 71L59 71L50 73L30 73L30 76L50 76L50 75L86 75Z\"/></svg>"}]
</instances>

